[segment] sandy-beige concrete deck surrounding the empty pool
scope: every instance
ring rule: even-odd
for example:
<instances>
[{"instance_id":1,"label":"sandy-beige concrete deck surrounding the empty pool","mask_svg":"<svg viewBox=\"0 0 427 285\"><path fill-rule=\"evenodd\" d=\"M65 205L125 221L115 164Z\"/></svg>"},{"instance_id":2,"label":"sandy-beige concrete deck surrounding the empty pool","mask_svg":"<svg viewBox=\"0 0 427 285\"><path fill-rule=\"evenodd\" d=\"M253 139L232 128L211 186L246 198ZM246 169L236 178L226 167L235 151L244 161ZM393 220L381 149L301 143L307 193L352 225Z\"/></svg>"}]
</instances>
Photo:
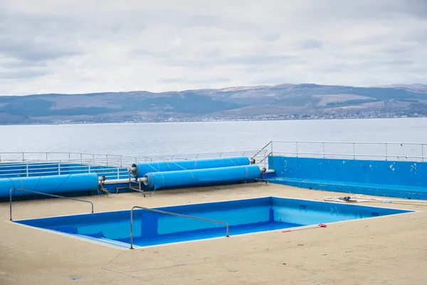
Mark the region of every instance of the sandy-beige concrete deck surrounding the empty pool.
<instances>
[{"instance_id":1,"label":"sandy-beige concrete deck surrounding the empty pool","mask_svg":"<svg viewBox=\"0 0 427 285\"><path fill-rule=\"evenodd\" d=\"M95 213L264 197L323 200L332 193L248 183L83 197ZM357 203L417 210L295 232L261 232L123 250L9 222L0 203L0 284L427 284L427 203ZM90 213L47 199L13 203L14 220Z\"/></svg>"}]
</instances>

